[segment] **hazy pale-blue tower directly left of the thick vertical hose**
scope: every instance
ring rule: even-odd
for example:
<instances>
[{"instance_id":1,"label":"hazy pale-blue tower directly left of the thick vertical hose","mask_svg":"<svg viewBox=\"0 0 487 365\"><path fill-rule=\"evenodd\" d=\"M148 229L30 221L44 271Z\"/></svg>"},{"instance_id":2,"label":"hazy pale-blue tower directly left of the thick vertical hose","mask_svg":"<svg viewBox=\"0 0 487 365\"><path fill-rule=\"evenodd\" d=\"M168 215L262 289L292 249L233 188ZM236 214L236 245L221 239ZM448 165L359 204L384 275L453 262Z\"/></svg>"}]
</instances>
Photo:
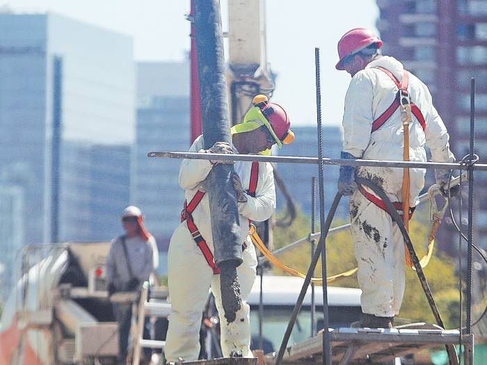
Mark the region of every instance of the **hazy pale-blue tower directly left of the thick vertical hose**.
<instances>
[{"instance_id":1,"label":"hazy pale-blue tower directly left of the thick vertical hose","mask_svg":"<svg viewBox=\"0 0 487 365\"><path fill-rule=\"evenodd\" d=\"M181 160L148 158L147 152L189 148L189 63L138 63L137 99L131 202L164 249L184 202L177 182Z\"/></svg>"}]
</instances>

